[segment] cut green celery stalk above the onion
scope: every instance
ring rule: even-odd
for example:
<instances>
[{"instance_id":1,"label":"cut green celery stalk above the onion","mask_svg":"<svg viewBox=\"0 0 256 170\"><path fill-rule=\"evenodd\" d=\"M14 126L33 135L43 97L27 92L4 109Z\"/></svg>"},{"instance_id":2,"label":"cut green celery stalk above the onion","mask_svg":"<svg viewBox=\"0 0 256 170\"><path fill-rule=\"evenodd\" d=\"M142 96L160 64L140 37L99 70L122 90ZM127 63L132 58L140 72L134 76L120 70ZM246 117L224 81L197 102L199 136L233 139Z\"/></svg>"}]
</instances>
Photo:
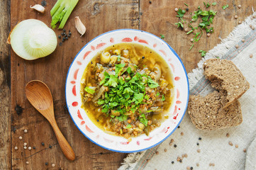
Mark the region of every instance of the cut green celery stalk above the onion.
<instances>
[{"instance_id":1,"label":"cut green celery stalk above the onion","mask_svg":"<svg viewBox=\"0 0 256 170\"><path fill-rule=\"evenodd\" d=\"M64 28L67 19L78 1L79 0L57 0L55 6L53 6L50 11L50 15L52 16L50 26L52 28L56 28L57 23L60 22L58 29Z\"/></svg>"}]
</instances>

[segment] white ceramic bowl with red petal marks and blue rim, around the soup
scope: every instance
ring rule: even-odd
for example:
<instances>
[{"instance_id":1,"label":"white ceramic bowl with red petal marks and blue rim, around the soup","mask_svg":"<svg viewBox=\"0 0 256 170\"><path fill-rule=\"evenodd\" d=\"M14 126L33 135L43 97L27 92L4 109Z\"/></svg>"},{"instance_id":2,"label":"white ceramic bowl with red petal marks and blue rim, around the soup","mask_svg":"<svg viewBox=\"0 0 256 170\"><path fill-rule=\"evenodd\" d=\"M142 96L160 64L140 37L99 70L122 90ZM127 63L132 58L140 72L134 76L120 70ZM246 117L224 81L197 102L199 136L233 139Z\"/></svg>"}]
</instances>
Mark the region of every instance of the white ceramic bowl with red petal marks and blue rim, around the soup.
<instances>
[{"instance_id":1,"label":"white ceramic bowl with red petal marks and blue rim, around the soup","mask_svg":"<svg viewBox=\"0 0 256 170\"><path fill-rule=\"evenodd\" d=\"M152 130L149 136L139 135L133 137L130 142L124 137L109 135L98 128L81 108L80 81L87 64L98 52L121 42L145 45L159 53L172 71L175 86L175 96L172 106L169 108L169 118L159 128ZM140 152L159 145L181 123L189 99L189 81L182 60L164 40L143 30L112 30L94 38L78 52L67 73L65 94L67 108L74 124L91 142L114 152Z\"/></svg>"}]
</instances>

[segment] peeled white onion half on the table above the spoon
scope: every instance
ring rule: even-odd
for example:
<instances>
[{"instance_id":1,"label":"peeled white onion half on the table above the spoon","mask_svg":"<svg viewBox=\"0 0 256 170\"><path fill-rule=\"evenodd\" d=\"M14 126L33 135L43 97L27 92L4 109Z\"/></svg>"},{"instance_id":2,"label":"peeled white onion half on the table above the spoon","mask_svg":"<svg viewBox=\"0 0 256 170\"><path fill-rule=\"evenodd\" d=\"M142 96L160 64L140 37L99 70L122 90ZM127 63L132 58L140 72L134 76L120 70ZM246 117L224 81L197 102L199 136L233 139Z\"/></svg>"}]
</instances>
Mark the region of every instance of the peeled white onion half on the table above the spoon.
<instances>
[{"instance_id":1,"label":"peeled white onion half on the table above the spoon","mask_svg":"<svg viewBox=\"0 0 256 170\"><path fill-rule=\"evenodd\" d=\"M57 47L57 36L42 21L28 19L18 23L10 35L13 51L25 60L50 55Z\"/></svg>"}]
</instances>

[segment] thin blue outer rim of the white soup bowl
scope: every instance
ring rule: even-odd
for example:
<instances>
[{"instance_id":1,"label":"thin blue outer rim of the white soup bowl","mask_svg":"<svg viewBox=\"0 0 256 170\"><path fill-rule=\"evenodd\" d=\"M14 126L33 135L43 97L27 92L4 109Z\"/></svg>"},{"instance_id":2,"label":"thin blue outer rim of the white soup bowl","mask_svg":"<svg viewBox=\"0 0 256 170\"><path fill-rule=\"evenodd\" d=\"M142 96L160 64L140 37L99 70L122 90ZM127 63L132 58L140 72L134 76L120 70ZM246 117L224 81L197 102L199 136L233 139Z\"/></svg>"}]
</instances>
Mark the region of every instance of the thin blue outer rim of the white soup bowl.
<instances>
[{"instance_id":1,"label":"thin blue outer rim of the white soup bowl","mask_svg":"<svg viewBox=\"0 0 256 170\"><path fill-rule=\"evenodd\" d=\"M133 31L138 31L140 33L147 33L149 35L152 35L154 36L155 38L158 38L159 40L161 40L162 42L165 42L165 40L162 40L161 38L157 37L157 35L154 35L152 33L148 33L147 31L145 30L137 30L137 29L131 29L131 28L122 28L122 29L116 29L116 30L110 30L108 32L105 32L105 33L102 33L98 36L96 36L95 38L93 38L92 40L90 40L89 42L87 42L86 45L84 45L84 47L87 47L87 45L89 45L92 41L94 41L96 38L99 38L101 37L102 35L105 35L105 34L108 34L108 33L113 33L113 32L116 32L116 31L121 31L121 30L133 30ZM102 147L104 149L107 149L107 150L110 150L110 151L113 151L113 152L120 152L120 153L133 153L133 152L142 152L142 151L145 151L145 150L148 150L148 149L151 149L152 147L155 147L157 145L160 145L162 142L164 142L165 140L167 140L167 138L172 135L172 133L177 130L177 127L179 126L180 123L182 123L182 120L184 118L184 115L186 114L186 111L187 111L187 106L188 106L188 103L189 103L189 79L188 79L188 76L187 76L187 71L184 67L184 64L182 62L182 60L180 59L179 55L177 55L177 52L175 52L172 47L167 43L165 42L165 44L169 47L169 50L171 50L173 52L173 54L175 55L175 57L177 57L177 59L179 60L179 62L182 64L182 68L184 70L184 73L186 75L186 79L187 79L187 88L188 88L188 94L187 94L187 103L186 103L186 108L184 109L184 113L182 114L182 118L179 120L179 123L177 123L176 127L172 130L172 132L169 133L169 135L167 135L164 139L162 139L160 142L157 142L155 143L155 145L152 145L150 147L146 147L144 149L138 149L138 150L133 150L133 151L121 151L121 150L116 150L116 149L110 149L108 147L104 147L103 145L100 145L99 143L97 142L94 142L94 140L91 140L90 137L88 137L87 135L84 134L84 132L82 132L82 130L79 128L79 126L77 125L77 123L74 121L70 111L69 111L69 106L67 105L67 78L69 76L69 71L74 63L74 61L76 60L77 56L80 54L80 52L82 52L82 50L84 50L84 47L81 48L81 50L79 50L79 52L77 52L77 55L74 57L74 59L72 60L72 63L69 65L69 69L67 71L67 77L66 77L66 81L65 81L65 101L66 101L66 106L67 106L67 110L69 111L69 115L70 117L72 118L72 121L74 123L74 125L77 126L77 129L82 132L82 134L87 137L88 140L90 140L91 142L93 142L94 144L98 145L99 147Z\"/></svg>"}]
</instances>

